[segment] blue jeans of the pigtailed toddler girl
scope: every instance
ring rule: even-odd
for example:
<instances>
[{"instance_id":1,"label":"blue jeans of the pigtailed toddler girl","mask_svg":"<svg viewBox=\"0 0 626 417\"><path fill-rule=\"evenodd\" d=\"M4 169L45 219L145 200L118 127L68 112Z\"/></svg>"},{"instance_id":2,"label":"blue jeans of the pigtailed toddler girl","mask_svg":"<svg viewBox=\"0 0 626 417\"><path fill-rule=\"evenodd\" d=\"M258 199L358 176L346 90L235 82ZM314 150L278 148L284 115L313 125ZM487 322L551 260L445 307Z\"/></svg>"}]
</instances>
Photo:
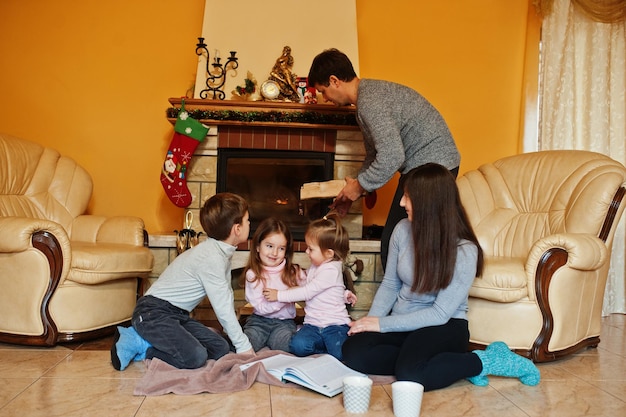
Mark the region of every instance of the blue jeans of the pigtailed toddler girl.
<instances>
[{"instance_id":1,"label":"blue jeans of the pigtailed toddler girl","mask_svg":"<svg viewBox=\"0 0 626 417\"><path fill-rule=\"evenodd\" d=\"M297 356L329 353L342 360L341 347L348 338L349 329L347 324L323 328L305 324L291 338L289 350Z\"/></svg>"}]
</instances>

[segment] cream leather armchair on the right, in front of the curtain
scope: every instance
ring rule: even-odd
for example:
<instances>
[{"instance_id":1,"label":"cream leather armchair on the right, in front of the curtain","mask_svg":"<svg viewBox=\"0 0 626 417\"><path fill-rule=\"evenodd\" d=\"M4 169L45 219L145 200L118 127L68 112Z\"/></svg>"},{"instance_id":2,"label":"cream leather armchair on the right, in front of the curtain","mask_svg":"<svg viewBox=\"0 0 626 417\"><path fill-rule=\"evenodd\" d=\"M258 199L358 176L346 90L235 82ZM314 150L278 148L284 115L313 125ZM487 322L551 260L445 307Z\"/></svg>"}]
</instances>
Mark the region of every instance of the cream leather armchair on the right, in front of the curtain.
<instances>
[{"instance_id":1,"label":"cream leather armchair on the right, in front of the curtain","mask_svg":"<svg viewBox=\"0 0 626 417\"><path fill-rule=\"evenodd\" d=\"M626 169L585 151L503 158L457 180L485 251L470 292L473 347L502 340L535 362L600 342Z\"/></svg>"}]
</instances>

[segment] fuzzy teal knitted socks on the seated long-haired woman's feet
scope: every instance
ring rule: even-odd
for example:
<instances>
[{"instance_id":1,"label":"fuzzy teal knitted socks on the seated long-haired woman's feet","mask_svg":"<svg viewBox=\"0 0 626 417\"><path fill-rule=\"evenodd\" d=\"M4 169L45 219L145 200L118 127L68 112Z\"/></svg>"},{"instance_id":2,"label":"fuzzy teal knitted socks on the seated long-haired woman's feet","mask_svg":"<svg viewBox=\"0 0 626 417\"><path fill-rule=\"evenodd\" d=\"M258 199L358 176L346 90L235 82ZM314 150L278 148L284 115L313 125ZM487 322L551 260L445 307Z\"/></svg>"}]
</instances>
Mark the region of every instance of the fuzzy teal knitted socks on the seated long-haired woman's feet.
<instances>
[{"instance_id":1,"label":"fuzzy teal knitted socks on the seated long-haired woman's feet","mask_svg":"<svg viewBox=\"0 0 626 417\"><path fill-rule=\"evenodd\" d=\"M535 364L514 352L504 342L493 342L487 349L475 350L474 353L483 363L483 371L467 378L472 384L484 387L489 384L487 375L519 378L522 384L534 386L541 375Z\"/></svg>"}]
</instances>

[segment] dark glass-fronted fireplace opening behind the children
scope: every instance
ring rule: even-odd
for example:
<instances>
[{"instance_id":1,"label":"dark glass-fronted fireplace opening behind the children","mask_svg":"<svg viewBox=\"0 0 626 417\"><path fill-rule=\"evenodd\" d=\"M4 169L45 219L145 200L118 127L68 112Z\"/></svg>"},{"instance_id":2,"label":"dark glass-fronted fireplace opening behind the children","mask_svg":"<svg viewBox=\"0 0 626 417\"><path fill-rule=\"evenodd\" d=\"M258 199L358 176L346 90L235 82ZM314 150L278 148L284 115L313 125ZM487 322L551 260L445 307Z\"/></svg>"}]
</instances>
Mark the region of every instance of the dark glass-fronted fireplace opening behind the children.
<instances>
[{"instance_id":1,"label":"dark glass-fronted fireplace opening behind the children","mask_svg":"<svg viewBox=\"0 0 626 417\"><path fill-rule=\"evenodd\" d=\"M311 220L328 212L332 198L300 201L307 182L333 179L334 154L222 148L217 158L217 192L241 195L250 206L250 234L270 216L283 220L294 240L304 240Z\"/></svg>"}]
</instances>

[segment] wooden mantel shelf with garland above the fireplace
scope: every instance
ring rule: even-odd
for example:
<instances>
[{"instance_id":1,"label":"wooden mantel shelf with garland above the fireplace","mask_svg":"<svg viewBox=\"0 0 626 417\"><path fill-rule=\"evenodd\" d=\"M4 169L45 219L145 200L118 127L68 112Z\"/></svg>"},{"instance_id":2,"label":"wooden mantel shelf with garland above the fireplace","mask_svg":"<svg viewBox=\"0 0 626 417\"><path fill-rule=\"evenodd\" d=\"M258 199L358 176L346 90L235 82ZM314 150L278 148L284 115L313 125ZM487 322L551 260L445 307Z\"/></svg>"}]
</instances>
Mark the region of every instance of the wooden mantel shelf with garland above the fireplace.
<instances>
[{"instance_id":1,"label":"wooden mantel shelf with garland above the fireplace","mask_svg":"<svg viewBox=\"0 0 626 417\"><path fill-rule=\"evenodd\" d=\"M359 130L353 106L283 101L236 101L186 98L185 110L207 125ZM182 98L170 98L167 119L173 124Z\"/></svg>"}]
</instances>

